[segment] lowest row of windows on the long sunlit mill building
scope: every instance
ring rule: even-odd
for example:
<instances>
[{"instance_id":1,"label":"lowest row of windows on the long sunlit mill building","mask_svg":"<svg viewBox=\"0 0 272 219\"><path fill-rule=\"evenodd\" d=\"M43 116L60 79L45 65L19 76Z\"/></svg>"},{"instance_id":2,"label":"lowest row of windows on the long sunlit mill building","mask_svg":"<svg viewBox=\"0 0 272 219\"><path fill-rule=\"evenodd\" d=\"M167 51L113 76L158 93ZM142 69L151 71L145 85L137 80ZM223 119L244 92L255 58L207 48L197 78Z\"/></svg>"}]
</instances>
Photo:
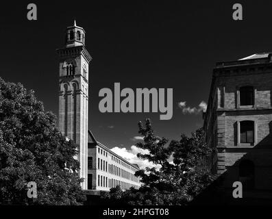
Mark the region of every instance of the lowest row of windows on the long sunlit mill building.
<instances>
[{"instance_id":1,"label":"lowest row of windows on the long sunlit mill building","mask_svg":"<svg viewBox=\"0 0 272 219\"><path fill-rule=\"evenodd\" d=\"M121 190L128 190L131 187L138 188L138 186L131 183L127 183L117 179L108 179L108 177L98 175L97 185L104 188L115 188L117 185L120 186Z\"/></svg>"}]
</instances>

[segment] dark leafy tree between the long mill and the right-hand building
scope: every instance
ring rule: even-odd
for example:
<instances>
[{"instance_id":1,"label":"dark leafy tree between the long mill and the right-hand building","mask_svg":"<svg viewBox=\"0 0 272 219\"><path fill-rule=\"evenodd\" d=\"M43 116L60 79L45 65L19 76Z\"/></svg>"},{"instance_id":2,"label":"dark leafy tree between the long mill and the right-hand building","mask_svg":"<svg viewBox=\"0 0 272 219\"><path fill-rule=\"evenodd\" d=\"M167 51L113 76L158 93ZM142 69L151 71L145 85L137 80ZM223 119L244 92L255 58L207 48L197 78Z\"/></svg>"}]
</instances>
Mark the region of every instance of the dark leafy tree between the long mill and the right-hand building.
<instances>
[{"instance_id":1,"label":"dark leafy tree between the long mill and the right-hand building","mask_svg":"<svg viewBox=\"0 0 272 219\"><path fill-rule=\"evenodd\" d=\"M144 141L136 146L149 153L138 153L137 156L160 168L136 172L144 183L139 190L131 188L121 192L114 188L108 194L103 192L102 198L129 205L185 205L212 182L208 166L212 151L203 140L203 129L198 129L191 137L182 134L179 141L172 140L167 144L166 138L154 135L149 119L145 127L142 123L138 127Z\"/></svg>"}]
</instances>

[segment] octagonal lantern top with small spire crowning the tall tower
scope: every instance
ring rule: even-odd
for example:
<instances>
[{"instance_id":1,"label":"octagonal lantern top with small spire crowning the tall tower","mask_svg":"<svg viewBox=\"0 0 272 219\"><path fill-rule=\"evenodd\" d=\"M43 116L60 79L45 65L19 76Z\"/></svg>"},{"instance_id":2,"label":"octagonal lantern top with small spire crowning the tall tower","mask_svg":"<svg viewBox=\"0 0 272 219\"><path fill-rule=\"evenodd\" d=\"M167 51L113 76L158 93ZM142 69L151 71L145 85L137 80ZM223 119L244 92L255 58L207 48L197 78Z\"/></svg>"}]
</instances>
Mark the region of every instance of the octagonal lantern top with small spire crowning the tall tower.
<instances>
[{"instance_id":1,"label":"octagonal lantern top with small spire crowning the tall tower","mask_svg":"<svg viewBox=\"0 0 272 219\"><path fill-rule=\"evenodd\" d=\"M78 27L74 20L73 26L66 28L66 47L85 46L85 31L82 27Z\"/></svg>"}]
</instances>

